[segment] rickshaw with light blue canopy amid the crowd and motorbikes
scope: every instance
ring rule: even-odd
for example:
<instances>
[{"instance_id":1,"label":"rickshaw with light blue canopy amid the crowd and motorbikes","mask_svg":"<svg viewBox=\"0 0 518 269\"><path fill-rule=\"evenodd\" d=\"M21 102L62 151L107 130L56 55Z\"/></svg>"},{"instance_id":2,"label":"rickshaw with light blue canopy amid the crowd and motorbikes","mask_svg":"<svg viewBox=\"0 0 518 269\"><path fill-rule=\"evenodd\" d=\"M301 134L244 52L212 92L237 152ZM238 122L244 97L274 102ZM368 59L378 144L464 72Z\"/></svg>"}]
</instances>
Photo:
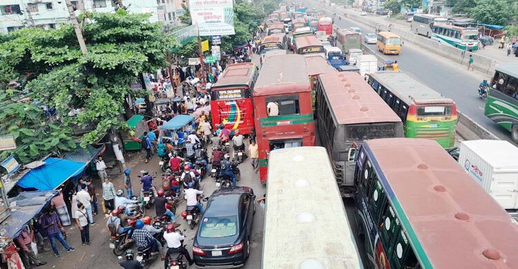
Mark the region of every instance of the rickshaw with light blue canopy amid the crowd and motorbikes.
<instances>
[{"instance_id":1,"label":"rickshaw with light blue canopy amid the crowd and motorbikes","mask_svg":"<svg viewBox=\"0 0 518 269\"><path fill-rule=\"evenodd\" d=\"M160 135L158 141L171 141L171 145L177 148L178 155L185 157L186 140L189 132L195 132L196 123L194 117L189 115L176 115L170 121L160 126Z\"/></svg>"}]
</instances>

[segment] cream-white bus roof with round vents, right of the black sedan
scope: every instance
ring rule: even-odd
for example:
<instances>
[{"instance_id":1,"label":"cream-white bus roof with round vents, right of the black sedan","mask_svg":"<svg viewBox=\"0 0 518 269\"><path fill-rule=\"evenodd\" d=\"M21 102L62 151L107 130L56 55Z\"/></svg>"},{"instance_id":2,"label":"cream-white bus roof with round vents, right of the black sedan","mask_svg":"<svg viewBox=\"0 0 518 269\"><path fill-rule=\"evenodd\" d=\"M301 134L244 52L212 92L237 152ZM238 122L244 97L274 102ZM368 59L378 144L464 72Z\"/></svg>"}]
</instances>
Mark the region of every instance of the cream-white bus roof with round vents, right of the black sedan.
<instances>
[{"instance_id":1,"label":"cream-white bus roof with round vents, right of the black sedan","mask_svg":"<svg viewBox=\"0 0 518 269\"><path fill-rule=\"evenodd\" d=\"M322 147L272 150L262 269L363 268Z\"/></svg>"}]
</instances>

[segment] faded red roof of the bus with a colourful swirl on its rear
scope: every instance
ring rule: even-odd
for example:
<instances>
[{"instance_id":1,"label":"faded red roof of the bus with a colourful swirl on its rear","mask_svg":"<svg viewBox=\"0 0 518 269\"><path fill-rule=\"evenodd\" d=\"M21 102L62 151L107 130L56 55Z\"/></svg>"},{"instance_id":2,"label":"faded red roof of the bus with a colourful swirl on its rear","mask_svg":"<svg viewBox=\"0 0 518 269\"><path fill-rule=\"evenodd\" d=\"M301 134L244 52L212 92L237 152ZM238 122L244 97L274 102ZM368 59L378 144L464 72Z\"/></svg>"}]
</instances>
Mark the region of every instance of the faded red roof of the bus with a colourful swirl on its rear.
<instances>
[{"instance_id":1,"label":"faded red roof of the bus with a colourful swirl on its rear","mask_svg":"<svg viewBox=\"0 0 518 269\"><path fill-rule=\"evenodd\" d=\"M225 68L222 77L214 83L211 89L220 90L228 87L250 86L255 70L255 63L233 63Z\"/></svg>"}]
</instances>

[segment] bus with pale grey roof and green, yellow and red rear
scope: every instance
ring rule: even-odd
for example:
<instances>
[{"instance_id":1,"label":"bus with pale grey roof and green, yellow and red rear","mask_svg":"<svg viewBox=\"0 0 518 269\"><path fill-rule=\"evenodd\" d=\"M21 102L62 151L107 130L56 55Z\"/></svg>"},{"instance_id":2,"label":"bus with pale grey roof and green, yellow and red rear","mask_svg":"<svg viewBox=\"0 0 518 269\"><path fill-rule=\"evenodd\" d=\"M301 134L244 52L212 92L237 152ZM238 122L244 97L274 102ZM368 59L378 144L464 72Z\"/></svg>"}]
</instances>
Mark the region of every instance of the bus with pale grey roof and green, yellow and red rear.
<instances>
[{"instance_id":1,"label":"bus with pale grey roof and green, yellow and red rear","mask_svg":"<svg viewBox=\"0 0 518 269\"><path fill-rule=\"evenodd\" d=\"M427 86L397 71L374 72L369 84L399 115L405 137L434 139L452 148L457 126L457 106Z\"/></svg>"}]
</instances>

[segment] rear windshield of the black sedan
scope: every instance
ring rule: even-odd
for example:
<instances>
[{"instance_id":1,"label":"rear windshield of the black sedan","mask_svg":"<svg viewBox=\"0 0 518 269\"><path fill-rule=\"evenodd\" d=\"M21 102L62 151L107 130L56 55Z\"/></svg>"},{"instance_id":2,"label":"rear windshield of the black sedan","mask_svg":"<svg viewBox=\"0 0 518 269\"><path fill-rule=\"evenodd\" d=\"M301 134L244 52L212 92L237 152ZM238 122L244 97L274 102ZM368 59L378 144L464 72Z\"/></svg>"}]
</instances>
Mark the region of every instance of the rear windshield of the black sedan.
<instances>
[{"instance_id":1,"label":"rear windshield of the black sedan","mask_svg":"<svg viewBox=\"0 0 518 269\"><path fill-rule=\"evenodd\" d=\"M204 217L200 227L200 237L231 237L238 233L238 216Z\"/></svg>"}]
</instances>

